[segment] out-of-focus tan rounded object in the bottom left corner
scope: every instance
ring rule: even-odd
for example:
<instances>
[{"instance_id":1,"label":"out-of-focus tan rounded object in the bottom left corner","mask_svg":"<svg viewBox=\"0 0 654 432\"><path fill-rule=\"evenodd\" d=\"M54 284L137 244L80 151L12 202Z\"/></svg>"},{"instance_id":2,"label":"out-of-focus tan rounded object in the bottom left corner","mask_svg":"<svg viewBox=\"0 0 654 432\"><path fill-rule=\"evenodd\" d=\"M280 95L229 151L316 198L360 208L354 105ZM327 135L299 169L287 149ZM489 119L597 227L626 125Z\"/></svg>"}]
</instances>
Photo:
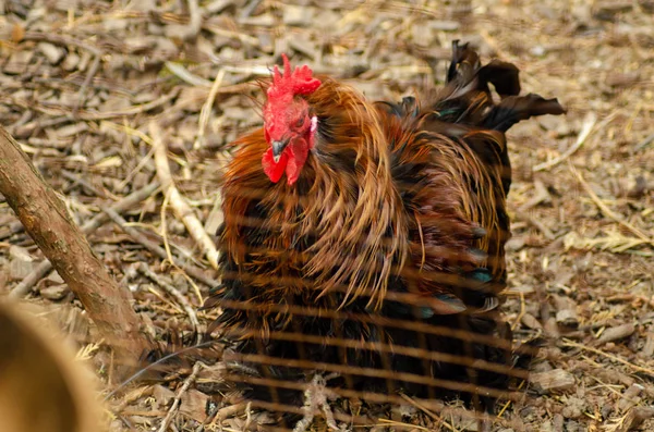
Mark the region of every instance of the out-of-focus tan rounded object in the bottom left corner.
<instances>
[{"instance_id":1,"label":"out-of-focus tan rounded object in the bottom left corner","mask_svg":"<svg viewBox=\"0 0 654 432\"><path fill-rule=\"evenodd\" d=\"M0 430L102 431L95 377L37 312L0 303Z\"/></svg>"}]
</instances>

